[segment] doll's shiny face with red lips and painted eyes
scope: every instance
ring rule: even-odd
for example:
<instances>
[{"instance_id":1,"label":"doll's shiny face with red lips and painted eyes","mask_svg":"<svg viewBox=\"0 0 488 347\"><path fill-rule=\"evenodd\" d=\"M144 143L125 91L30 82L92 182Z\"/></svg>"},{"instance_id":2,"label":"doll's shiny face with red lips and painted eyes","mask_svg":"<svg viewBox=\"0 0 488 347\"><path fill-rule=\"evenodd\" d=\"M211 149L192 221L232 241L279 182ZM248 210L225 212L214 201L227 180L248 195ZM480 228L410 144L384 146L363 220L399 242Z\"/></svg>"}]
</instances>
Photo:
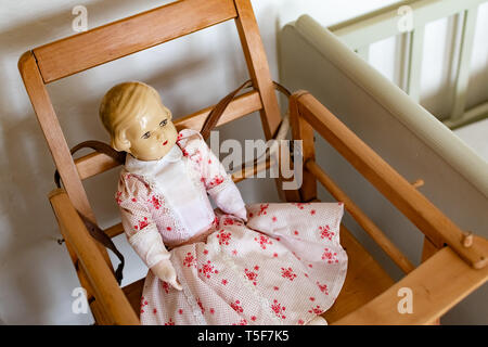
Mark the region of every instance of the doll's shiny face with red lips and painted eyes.
<instances>
[{"instance_id":1,"label":"doll's shiny face with red lips and painted eyes","mask_svg":"<svg viewBox=\"0 0 488 347\"><path fill-rule=\"evenodd\" d=\"M133 117L124 131L127 153L139 160L158 160L175 145L178 132L171 113L157 101L146 104L146 112Z\"/></svg>"}]
</instances>

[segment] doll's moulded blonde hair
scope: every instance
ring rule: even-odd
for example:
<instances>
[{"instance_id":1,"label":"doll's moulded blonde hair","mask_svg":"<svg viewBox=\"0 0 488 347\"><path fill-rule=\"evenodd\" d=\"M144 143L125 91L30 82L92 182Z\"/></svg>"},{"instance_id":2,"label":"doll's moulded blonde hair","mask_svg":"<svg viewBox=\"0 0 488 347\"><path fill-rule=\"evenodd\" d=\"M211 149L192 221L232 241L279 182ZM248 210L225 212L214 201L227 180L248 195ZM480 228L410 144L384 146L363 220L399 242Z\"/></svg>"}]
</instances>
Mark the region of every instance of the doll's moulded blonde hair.
<instances>
[{"instance_id":1,"label":"doll's moulded blonde hair","mask_svg":"<svg viewBox=\"0 0 488 347\"><path fill-rule=\"evenodd\" d=\"M125 131L133 118L146 112L147 102L163 105L159 93L151 86L140 81L116 85L108 90L100 104L100 119L108 131L114 149L120 149Z\"/></svg>"}]
</instances>

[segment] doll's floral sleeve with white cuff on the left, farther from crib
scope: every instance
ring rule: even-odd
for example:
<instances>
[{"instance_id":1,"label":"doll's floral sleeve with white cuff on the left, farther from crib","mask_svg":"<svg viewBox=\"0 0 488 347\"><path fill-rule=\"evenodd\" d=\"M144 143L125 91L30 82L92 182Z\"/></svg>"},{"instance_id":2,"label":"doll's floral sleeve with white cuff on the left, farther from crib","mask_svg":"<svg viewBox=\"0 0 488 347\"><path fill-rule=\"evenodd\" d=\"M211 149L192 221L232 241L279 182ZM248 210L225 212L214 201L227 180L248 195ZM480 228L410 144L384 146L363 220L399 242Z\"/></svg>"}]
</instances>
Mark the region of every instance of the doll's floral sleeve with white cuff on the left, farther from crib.
<instances>
[{"instance_id":1,"label":"doll's floral sleeve with white cuff on the left, farther from crib","mask_svg":"<svg viewBox=\"0 0 488 347\"><path fill-rule=\"evenodd\" d=\"M152 268L169 259L163 237L153 221L150 192L145 183L130 174L121 174L115 196L129 244L144 264Z\"/></svg>"}]
</instances>

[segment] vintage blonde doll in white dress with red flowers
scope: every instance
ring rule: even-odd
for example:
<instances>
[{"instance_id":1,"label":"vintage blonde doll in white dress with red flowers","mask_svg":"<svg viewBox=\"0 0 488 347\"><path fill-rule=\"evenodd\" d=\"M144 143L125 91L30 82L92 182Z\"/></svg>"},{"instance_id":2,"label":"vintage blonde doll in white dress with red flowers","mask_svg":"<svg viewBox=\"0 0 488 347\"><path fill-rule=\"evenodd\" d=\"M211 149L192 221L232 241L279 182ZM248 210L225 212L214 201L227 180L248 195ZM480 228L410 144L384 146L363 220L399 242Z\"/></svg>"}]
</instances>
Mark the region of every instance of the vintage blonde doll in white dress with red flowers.
<instances>
[{"instance_id":1,"label":"vintage blonde doll in white dress with red flowers","mask_svg":"<svg viewBox=\"0 0 488 347\"><path fill-rule=\"evenodd\" d=\"M127 152L115 198L150 269L142 324L326 323L347 269L342 203L246 206L200 132L178 132L145 83L112 88L100 116Z\"/></svg>"}]
</instances>

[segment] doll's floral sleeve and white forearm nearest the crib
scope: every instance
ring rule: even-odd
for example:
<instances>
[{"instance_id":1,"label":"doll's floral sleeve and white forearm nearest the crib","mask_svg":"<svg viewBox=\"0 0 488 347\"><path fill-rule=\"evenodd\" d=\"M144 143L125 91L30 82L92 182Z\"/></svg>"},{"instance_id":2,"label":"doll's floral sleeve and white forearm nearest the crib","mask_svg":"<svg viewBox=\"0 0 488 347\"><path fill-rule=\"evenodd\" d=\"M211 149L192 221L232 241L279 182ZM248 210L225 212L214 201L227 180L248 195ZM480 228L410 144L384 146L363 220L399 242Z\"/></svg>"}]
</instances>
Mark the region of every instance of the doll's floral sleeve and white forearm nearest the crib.
<instances>
[{"instance_id":1,"label":"doll's floral sleeve and white forearm nearest the crib","mask_svg":"<svg viewBox=\"0 0 488 347\"><path fill-rule=\"evenodd\" d=\"M216 205L226 214L246 220L246 209L241 192L200 132L182 130L178 144L183 155L198 164L202 181Z\"/></svg>"}]
</instances>

